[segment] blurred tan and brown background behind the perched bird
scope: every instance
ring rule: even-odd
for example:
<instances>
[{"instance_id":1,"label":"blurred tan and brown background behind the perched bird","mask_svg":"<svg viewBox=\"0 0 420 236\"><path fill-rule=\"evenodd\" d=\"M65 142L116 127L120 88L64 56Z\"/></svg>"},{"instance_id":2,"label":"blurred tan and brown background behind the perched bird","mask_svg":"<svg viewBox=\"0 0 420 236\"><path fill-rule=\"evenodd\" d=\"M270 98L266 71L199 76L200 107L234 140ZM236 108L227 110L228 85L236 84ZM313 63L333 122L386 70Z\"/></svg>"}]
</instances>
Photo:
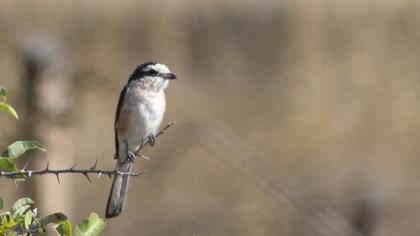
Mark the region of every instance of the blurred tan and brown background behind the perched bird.
<instances>
[{"instance_id":1,"label":"blurred tan and brown background behind the perched bird","mask_svg":"<svg viewBox=\"0 0 420 236\"><path fill-rule=\"evenodd\" d=\"M0 2L21 117L0 116L0 147L40 140L30 168L114 168L128 76L156 60L180 78L177 124L104 235L419 234L418 1ZM76 223L104 214L111 179L92 179L0 179L0 195Z\"/></svg>"}]
</instances>

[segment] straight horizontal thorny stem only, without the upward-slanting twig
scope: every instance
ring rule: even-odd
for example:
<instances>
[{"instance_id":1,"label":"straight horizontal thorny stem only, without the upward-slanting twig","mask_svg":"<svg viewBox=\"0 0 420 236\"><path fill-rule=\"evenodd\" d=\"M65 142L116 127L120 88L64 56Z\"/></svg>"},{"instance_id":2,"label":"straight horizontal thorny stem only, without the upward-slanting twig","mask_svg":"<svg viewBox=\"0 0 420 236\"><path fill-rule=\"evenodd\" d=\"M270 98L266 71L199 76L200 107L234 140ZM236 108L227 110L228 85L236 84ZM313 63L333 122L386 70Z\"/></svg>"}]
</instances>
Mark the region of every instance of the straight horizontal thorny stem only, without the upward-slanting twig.
<instances>
[{"instance_id":1,"label":"straight horizontal thorny stem only, without the upward-slanting twig","mask_svg":"<svg viewBox=\"0 0 420 236\"><path fill-rule=\"evenodd\" d=\"M53 174L56 176L58 183L60 183L60 174L81 174L81 175L84 175L90 183L92 183L92 181L89 178L89 174L97 174L98 178L103 174L108 175L108 177L110 178L111 176L115 176L115 175L138 177L144 174L144 171L134 173L134 172L122 172L122 171L118 171L117 169L113 169L113 170L97 169L96 168L97 164L98 164L98 161L95 161L95 163L90 168L87 168L87 169L76 169L74 168L75 165L73 165L72 167L67 168L67 169L56 170L56 169L50 169L49 162L47 162L47 165L43 170L21 169L20 171L15 171L15 172L0 171L0 176L8 177L8 178L11 178L13 181L15 181L18 178L22 178L22 177L27 178L27 177L31 177L32 175Z\"/></svg>"}]
</instances>

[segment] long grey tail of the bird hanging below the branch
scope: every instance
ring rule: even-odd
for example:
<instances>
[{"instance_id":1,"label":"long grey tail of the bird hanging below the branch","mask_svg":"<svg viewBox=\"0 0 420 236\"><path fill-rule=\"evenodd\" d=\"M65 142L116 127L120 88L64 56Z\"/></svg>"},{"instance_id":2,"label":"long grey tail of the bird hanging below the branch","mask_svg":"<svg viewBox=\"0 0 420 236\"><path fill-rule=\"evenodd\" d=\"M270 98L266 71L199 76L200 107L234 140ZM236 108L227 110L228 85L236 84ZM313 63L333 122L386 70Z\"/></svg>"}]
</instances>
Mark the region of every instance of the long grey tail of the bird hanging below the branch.
<instances>
[{"instance_id":1,"label":"long grey tail of the bird hanging below the branch","mask_svg":"<svg viewBox=\"0 0 420 236\"><path fill-rule=\"evenodd\" d=\"M117 161L118 171L130 172L131 163L119 164L119 162ZM128 176L115 175L106 205L105 218L115 217L121 213L127 199L127 189Z\"/></svg>"}]
</instances>

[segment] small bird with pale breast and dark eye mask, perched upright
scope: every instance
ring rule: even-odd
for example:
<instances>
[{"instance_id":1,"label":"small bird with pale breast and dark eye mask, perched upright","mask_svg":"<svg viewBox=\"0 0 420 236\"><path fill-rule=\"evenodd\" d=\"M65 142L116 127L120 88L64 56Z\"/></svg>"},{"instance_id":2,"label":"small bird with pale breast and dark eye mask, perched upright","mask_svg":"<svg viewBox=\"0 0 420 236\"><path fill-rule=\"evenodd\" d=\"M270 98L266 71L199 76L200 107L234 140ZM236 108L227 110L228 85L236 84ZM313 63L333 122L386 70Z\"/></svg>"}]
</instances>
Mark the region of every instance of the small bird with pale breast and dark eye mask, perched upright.
<instances>
[{"instance_id":1,"label":"small bird with pale breast and dark eye mask, perched upright","mask_svg":"<svg viewBox=\"0 0 420 236\"><path fill-rule=\"evenodd\" d=\"M139 65L122 88L114 122L116 170L128 173L135 152L145 142L155 144L155 135L165 109L165 89L177 79L167 66L154 61ZM118 216L127 199L128 176L115 175L105 218Z\"/></svg>"}]
</instances>

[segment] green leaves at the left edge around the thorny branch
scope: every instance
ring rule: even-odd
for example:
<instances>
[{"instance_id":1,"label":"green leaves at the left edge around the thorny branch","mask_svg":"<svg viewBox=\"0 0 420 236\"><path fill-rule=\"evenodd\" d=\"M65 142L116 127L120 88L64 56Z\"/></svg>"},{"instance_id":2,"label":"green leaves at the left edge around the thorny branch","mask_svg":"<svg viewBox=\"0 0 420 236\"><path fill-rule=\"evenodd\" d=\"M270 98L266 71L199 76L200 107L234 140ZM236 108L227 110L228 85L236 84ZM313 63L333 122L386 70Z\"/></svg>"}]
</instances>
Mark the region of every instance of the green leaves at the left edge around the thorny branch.
<instances>
[{"instance_id":1,"label":"green leaves at the left edge around the thorny branch","mask_svg":"<svg viewBox=\"0 0 420 236\"><path fill-rule=\"evenodd\" d=\"M0 110L17 119L18 115L16 114L15 109L7 103L7 91L2 87L0 87L0 99ZM36 141L15 141L9 145L0 156L1 174L19 172L20 169L18 169L14 163L15 159L26 151L33 149L45 151L41 144ZM11 179L15 182L24 181L29 177L30 175L16 175ZM4 199L0 196L0 235L44 235L48 224L54 224L54 231L57 235L72 235L71 224L70 221L67 220L66 215L57 212L38 218L38 210L36 208L30 209L33 203L34 201L30 198L20 198L13 204L11 210L3 211ZM96 213L91 213L89 218L83 220L74 228L74 235L98 235L104 227L105 221L99 218Z\"/></svg>"}]
</instances>

